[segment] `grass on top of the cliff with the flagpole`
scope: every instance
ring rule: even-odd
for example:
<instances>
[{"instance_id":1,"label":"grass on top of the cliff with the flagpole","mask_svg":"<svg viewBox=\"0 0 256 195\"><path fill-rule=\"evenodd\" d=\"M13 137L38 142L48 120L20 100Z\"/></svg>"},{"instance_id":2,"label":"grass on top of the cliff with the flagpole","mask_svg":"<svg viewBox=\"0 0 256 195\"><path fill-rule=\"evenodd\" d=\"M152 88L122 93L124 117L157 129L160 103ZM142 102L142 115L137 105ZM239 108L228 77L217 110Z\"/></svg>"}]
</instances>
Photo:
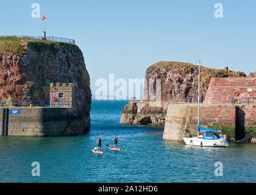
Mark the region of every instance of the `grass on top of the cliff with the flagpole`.
<instances>
[{"instance_id":1,"label":"grass on top of the cliff with the flagpole","mask_svg":"<svg viewBox=\"0 0 256 195\"><path fill-rule=\"evenodd\" d=\"M34 49L36 52L44 51L45 49L71 49L74 52L79 52L80 49L75 44L62 43L48 40L37 40L33 38L24 37L0 37L0 50L14 54L21 55L27 48Z\"/></svg>"}]
</instances>

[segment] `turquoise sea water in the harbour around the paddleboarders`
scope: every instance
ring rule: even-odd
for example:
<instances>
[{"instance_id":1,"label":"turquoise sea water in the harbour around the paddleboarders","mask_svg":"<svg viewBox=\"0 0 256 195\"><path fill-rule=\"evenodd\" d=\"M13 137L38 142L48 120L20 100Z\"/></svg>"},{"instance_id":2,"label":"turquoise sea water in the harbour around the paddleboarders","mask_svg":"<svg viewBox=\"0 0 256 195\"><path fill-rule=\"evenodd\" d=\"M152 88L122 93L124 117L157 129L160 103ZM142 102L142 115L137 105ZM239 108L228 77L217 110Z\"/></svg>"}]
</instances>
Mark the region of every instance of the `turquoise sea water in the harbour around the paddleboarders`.
<instances>
[{"instance_id":1,"label":"turquoise sea water in the harbour around the paddleboarders","mask_svg":"<svg viewBox=\"0 0 256 195\"><path fill-rule=\"evenodd\" d=\"M163 128L119 124L127 101L93 101L91 130L76 137L0 137L0 182L256 182L256 144L227 148L164 141ZM113 135L123 151L108 151ZM105 154L93 154L97 137ZM31 164L40 163L40 177ZM215 176L215 162L223 177Z\"/></svg>"}]
</instances>

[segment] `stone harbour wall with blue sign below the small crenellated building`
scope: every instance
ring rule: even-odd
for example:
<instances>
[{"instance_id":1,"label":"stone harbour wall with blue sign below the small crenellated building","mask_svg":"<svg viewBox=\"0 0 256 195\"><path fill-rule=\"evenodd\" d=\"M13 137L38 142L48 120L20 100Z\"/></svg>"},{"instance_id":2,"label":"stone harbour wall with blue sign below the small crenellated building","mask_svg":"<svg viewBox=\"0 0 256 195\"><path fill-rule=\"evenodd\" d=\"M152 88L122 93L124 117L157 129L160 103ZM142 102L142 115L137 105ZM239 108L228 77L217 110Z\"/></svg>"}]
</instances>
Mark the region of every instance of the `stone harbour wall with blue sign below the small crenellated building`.
<instances>
[{"instance_id":1,"label":"stone harbour wall with blue sign below the small crenellated building","mask_svg":"<svg viewBox=\"0 0 256 195\"><path fill-rule=\"evenodd\" d=\"M0 108L1 135L2 110ZM74 108L9 107L9 110L20 110L20 114L9 114L9 136L81 135L90 128L90 118L79 115Z\"/></svg>"}]
</instances>

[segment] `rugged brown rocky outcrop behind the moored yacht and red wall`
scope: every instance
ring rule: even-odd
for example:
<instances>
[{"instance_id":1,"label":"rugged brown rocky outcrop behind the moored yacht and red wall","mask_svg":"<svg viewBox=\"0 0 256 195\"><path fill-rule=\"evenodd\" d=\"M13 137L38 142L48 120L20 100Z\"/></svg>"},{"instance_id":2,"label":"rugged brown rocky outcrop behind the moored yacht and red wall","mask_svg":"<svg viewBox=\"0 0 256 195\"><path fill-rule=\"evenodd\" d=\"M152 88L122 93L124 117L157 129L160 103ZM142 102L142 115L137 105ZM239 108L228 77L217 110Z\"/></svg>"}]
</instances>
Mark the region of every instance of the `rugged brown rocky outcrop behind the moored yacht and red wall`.
<instances>
[{"instance_id":1,"label":"rugged brown rocky outcrop behind the moored yacht and red wall","mask_svg":"<svg viewBox=\"0 0 256 195\"><path fill-rule=\"evenodd\" d=\"M246 77L242 72L225 69L205 68L201 66L201 94L205 98L212 77ZM149 66L145 79L161 79L161 104L152 106L155 99L148 93L148 83L144 83L143 100L129 103L121 111L121 124L155 124L164 125L167 107L170 102L184 103L186 98L193 98L197 102L198 66L183 62L158 62ZM155 91L155 89L154 89ZM193 96L194 94L194 96ZM154 93L155 95L155 93ZM137 105L144 105L144 109L137 109ZM147 106L146 106L147 105ZM152 107L152 108L151 108Z\"/></svg>"}]
</instances>

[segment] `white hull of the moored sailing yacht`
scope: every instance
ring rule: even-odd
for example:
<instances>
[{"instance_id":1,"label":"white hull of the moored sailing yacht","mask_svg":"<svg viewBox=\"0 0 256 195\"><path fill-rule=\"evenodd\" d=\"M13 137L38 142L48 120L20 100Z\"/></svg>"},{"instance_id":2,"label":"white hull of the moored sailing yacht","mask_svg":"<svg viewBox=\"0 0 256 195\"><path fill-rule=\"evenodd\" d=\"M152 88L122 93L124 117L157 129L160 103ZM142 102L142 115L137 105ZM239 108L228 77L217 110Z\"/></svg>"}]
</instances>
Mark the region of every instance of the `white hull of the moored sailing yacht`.
<instances>
[{"instance_id":1,"label":"white hull of the moored sailing yacht","mask_svg":"<svg viewBox=\"0 0 256 195\"><path fill-rule=\"evenodd\" d=\"M229 143L226 140L204 140L202 138L183 138L185 143L190 146L205 146L205 147L227 147Z\"/></svg>"}]
</instances>

